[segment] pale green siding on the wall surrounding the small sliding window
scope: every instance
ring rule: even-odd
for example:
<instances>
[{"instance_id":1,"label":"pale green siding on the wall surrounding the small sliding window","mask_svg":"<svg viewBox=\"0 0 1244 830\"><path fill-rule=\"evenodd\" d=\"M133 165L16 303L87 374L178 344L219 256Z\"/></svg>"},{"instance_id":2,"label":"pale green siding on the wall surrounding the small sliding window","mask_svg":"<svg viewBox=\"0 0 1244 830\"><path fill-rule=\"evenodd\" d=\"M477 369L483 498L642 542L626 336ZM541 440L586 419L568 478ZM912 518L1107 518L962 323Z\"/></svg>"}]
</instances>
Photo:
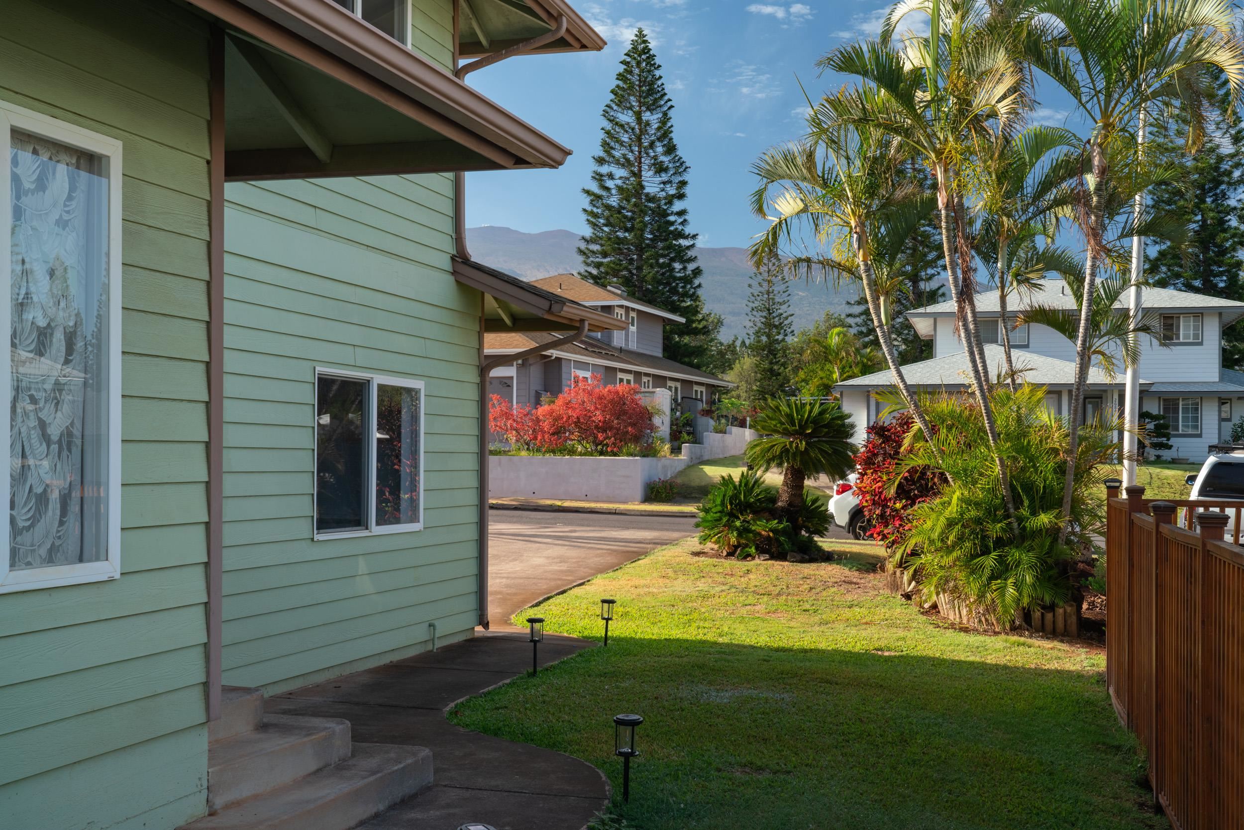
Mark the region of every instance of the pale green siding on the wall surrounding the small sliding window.
<instances>
[{"instance_id":1,"label":"pale green siding on the wall surrounding the small sliding window","mask_svg":"<svg viewBox=\"0 0 1244 830\"><path fill-rule=\"evenodd\" d=\"M445 175L230 184L224 679L269 692L476 621L479 295ZM424 530L313 541L315 370L425 382Z\"/></svg>"}]
</instances>

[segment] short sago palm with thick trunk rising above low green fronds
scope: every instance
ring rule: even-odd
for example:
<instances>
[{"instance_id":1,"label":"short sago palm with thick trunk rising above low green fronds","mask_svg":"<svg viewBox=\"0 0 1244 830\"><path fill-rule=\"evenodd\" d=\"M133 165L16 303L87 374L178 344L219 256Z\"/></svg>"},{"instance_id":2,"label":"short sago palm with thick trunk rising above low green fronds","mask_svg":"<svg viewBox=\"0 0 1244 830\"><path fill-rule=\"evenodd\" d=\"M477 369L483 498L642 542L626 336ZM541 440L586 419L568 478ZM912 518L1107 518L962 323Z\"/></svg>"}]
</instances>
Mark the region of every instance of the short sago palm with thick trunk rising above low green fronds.
<instances>
[{"instance_id":1,"label":"short sago palm with thick trunk rising above low green fronds","mask_svg":"<svg viewBox=\"0 0 1244 830\"><path fill-rule=\"evenodd\" d=\"M847 477L857 447L851 443L855 424L835 401L824 398L770 398L751 428L760 433L748 443L748 464L761 474L782 468L778 513L799 526L804 508L804 483L809 475Z\"/></svg>"}]
</instances>

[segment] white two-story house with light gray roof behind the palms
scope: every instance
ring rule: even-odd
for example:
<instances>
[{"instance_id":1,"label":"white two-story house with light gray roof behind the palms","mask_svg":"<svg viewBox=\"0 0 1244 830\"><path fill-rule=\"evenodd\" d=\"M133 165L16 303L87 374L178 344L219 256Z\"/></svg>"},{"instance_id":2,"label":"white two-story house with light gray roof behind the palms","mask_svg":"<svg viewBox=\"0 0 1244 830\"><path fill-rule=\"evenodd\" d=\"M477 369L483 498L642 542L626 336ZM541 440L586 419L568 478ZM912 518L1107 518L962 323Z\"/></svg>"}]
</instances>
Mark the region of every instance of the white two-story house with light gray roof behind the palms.
<instances>
[{"instance_id":1,"label":"white two-story house with light gray roof behind the palms","mask_svg":"<svg viewBox=\"0 0 1244 830\"><path fill-rule=\"evenodd\" d=\"M1159 317L1166 343L1143 338L1141 409L1167 417L1172 457L1203 460L1209 454L1209 445L1229 439L1232 422L1244 416L1244 372L1222 365L1222 332L1244 317L1244 302L1157 287L1143 289L1142 302L1146 315ZM1064 414L1075 380L1075 343L1046 326L1015 324L1019 314L1031 305L1074 310L1075 297L1061 279L1047 279L1030 299L1013 300L1013 304L1018 306L1009 321L1015 367L1026 370L1024 380L1049 387L1050 408ZM1004 366L1003 348L998 345L1001 322L998 295L979 295L977 310L989 371L996 376ZM1120 311L1123 310L1120 305ZM954 320L953 302L907 312L907 321L919 336L933 341L932 358L903 367L908 383L926 389L967 386L967 358ZM876 421L884 408L872 393L892 385L893 377L884 370L835 387L842 396L843 408L855 416L861 433L857 439L862 438L863 427ZM1121 411L1122 406L1122 370L1111 378L1093 366L1080 417L1092 418L1102 409Z\"/></svg>"}]
</instances>

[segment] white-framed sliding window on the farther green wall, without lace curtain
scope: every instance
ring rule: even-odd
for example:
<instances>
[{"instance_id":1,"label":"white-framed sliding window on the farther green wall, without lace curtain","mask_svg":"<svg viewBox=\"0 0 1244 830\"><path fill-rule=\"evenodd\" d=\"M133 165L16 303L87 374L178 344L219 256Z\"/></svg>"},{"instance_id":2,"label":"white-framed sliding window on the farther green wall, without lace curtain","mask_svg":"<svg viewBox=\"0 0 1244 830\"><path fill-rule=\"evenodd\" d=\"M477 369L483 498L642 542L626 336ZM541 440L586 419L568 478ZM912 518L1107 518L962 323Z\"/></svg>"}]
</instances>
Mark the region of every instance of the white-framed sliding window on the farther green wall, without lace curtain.
<instances>
[{"instance_id":1,"label":"white-framed sliding window on the farther green wall, without lace curtain","mask_svg":"<svg viewBox=\"0 0 1244 830\"><path fill-rule=\"evenodd\" d=\"M423 381L316 370L315 538L423 529Z\"/></svg>"}]
</instances>

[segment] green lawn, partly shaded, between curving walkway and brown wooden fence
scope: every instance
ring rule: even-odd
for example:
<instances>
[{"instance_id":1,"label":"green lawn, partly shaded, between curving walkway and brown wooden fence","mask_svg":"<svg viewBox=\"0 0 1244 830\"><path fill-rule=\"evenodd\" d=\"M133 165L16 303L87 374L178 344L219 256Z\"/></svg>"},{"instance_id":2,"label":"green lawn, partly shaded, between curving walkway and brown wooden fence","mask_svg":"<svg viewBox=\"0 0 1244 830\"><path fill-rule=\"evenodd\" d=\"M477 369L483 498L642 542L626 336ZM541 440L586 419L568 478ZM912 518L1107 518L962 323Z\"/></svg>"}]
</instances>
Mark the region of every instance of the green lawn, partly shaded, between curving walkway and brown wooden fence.
<instances>
[{"instance_id":1,"label":"green lawn, partly shaded, between curving walkway and brown wooden fence","mask_svg":"<svg viewBox=\"0 0 1244 830\"><path fill-rule=\"evenodd\" d=\"M583 758L621 786L612 717L644 716L638 830L1164 828L1088 645L982 636L884 594L871 543L791 565L687 540L540 606L600 638L453 712ZM526 616L526 611L516 617Z\"/></svg>"}]
</instances>

